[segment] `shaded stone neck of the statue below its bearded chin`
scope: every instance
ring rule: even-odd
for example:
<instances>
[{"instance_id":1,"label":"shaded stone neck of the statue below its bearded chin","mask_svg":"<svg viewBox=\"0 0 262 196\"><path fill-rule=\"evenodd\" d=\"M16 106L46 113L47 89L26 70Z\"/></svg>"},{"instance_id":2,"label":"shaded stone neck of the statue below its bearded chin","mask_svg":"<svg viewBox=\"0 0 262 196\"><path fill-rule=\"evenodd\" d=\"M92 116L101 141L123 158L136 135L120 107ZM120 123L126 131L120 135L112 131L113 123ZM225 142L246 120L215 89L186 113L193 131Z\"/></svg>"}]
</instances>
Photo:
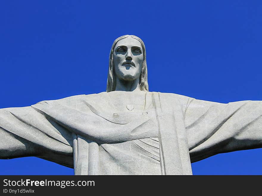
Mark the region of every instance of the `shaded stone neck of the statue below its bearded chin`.
<instances>
[{"instance_id":1,"label":"shaded stone neck of the statue below its bearded chin","mask_svg":"<svg viewBox=\"0 0 262 196\"><path fill-rule=\"evenodd\" d=\"M127 81L116 78L116 89L121 91L140 91L139 88L139 78Z\"/></svg>"}]
</instances>

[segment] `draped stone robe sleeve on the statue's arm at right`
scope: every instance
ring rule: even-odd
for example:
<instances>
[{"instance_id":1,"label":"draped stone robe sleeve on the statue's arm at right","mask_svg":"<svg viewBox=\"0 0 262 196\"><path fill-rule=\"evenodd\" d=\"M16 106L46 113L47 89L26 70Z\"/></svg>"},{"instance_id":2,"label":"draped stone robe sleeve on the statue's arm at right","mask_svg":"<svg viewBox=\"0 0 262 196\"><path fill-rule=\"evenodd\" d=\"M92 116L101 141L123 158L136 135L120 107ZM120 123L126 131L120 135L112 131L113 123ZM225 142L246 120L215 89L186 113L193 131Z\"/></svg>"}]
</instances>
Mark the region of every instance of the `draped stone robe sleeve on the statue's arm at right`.
<instances>
[{"instance_id":1,"label":"draped stone robe sleeve on the statue's arm at right","mask_svg":"<svg viewBox=\"0 0 262 196\"><path fill-rule=\"evenodd\" d=\"M262 147L262 101L221 104L190 98L185 126L191 162Z\"/></svg>"}]
</instances>

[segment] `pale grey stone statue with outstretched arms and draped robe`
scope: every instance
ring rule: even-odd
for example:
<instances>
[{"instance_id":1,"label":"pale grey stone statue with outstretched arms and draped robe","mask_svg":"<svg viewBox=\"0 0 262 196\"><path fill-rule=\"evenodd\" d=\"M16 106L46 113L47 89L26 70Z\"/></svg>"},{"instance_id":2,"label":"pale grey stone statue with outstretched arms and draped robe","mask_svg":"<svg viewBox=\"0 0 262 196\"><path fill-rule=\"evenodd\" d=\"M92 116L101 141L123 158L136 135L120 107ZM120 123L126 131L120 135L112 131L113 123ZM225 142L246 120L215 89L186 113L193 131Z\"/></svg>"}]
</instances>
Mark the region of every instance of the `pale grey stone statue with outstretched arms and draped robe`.
<instances>
[{"instance_id":1,"label":"pale grey stone statue with outstretched arms and draped robe","mask_svg":"<svg viewBox=\"0 0 262 196\"><path fill-rule=\"evenodd\" d=\"M191 163L262 147L262 101L149 92L143 41L111 48L106 92L0 109L0 158L35 156L75 175L192 175Z\"/></svg>"}]
</instances>

